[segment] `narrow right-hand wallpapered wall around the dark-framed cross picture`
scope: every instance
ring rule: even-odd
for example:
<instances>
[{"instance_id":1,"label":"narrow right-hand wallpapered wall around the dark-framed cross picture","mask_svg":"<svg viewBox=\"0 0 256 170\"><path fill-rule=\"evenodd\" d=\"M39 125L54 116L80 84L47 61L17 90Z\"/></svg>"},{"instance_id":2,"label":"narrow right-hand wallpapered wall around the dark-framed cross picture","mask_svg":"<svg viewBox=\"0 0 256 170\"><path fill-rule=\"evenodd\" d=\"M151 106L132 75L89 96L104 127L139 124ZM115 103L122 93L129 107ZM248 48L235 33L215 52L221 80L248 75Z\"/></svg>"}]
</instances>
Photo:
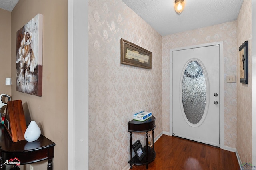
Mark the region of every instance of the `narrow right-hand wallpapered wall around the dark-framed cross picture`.
<instances>
[{"instance_id":1,"label":"narrow right-hand wallpapered wall around the dark-framed cross picture","mask_svg":"<svg viewBox=\"0 0 256 170\"><path fill-rule=\"evenodd\" d=\"M246 2L246 3L245 3ZM237 150L242 163L252 162L252 1L244 1L237 18L237 47L248 41L248 84L237 82ZM239 50L237 75L240 79Z\"/></svg>"}]
</instances>

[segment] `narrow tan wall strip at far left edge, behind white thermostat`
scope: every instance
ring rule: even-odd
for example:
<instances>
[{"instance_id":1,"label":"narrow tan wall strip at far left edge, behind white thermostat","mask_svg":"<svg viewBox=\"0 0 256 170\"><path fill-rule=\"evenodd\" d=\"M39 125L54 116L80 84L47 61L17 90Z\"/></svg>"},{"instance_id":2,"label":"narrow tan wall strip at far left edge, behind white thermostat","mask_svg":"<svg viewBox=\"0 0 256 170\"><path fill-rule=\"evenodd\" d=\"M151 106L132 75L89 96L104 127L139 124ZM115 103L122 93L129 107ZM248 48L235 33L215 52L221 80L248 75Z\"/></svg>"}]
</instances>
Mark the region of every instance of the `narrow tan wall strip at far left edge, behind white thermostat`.
<instances>
[{"instance_id":1,"label":"narrow tan wall strip at far left edge, behind white thermostat","mask_svg":"<svg viewBox=\"0 0 256 170\"><path fill-rule=\"evenodd\" d=\"M0 30L0 94L11 95L11 86L5 85L11 77L11 12L0 9Z\"/></svg>"}]
</instances>

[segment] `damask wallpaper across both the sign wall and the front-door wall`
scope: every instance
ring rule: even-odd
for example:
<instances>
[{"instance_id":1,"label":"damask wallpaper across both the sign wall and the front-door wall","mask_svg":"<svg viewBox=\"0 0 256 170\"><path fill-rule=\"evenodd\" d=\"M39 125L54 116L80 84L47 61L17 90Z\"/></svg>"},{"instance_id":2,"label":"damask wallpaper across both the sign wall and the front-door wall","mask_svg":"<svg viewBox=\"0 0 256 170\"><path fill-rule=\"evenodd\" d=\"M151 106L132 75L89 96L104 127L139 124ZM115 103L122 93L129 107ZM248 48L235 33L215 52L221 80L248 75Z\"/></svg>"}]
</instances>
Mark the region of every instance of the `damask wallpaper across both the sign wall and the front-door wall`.
<instances>
[{"instance_id":1,"label":"damask wallpaper across both the sign wall and the front-door wall","mask_svg":"<svg viewBox=\"0 0 256 170\"><path fill-rule=\"evenodd\" d=\"M224 41L224 146L236 148L237 83L226 83L236 75L236 21L162 37L121 0L89 0L88 8L90 169L128 164L127 122L138 111L152 111L155 136L169 132L170 49L203 43ZM152 70L120 64L121 38L152 52Z\"/></svg>"}]
</instances>

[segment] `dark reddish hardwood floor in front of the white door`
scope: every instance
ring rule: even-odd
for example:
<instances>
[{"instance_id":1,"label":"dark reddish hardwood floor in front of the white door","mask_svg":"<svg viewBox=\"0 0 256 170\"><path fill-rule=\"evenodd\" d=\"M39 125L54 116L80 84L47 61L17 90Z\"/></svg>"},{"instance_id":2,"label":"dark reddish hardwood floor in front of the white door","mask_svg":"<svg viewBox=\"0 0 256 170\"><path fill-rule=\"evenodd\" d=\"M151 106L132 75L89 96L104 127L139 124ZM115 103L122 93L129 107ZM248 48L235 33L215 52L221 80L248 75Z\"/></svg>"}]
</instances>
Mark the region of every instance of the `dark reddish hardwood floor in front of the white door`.
<instances>
[{"instance_id":1,"label":"dark reddish hardwood floor in front of the white door","mask_svg":"<svg viewBox=\"0 0 256 170\"><path fill-rule=\"evenodd\" d=\"M156 158L149 170L238 170L236 153L174 136L155 142ZM133 166L145 170L146 165Z\"/></svg>"}]
</instances>

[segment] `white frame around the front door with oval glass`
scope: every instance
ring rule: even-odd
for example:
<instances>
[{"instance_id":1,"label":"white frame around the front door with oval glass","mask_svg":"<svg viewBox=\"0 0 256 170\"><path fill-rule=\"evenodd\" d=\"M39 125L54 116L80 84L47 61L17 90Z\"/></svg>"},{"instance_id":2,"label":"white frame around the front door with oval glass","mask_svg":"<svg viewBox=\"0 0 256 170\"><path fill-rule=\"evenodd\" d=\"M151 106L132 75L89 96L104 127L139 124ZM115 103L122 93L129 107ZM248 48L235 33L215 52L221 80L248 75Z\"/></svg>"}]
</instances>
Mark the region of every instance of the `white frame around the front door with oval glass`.
<instances>
[{"instance_id":1,"label":"white frame around the front door with oval glass","mask_svg":"<svg viewBox=\"0 0 256 170\"><path fill-rule=\"evenodd\" d=\"M224 43L204 43L189 47L170 49L170 136L172 136L172 51L220 45L220 148L224 149Z\"/></svg>"}]
</instances>

